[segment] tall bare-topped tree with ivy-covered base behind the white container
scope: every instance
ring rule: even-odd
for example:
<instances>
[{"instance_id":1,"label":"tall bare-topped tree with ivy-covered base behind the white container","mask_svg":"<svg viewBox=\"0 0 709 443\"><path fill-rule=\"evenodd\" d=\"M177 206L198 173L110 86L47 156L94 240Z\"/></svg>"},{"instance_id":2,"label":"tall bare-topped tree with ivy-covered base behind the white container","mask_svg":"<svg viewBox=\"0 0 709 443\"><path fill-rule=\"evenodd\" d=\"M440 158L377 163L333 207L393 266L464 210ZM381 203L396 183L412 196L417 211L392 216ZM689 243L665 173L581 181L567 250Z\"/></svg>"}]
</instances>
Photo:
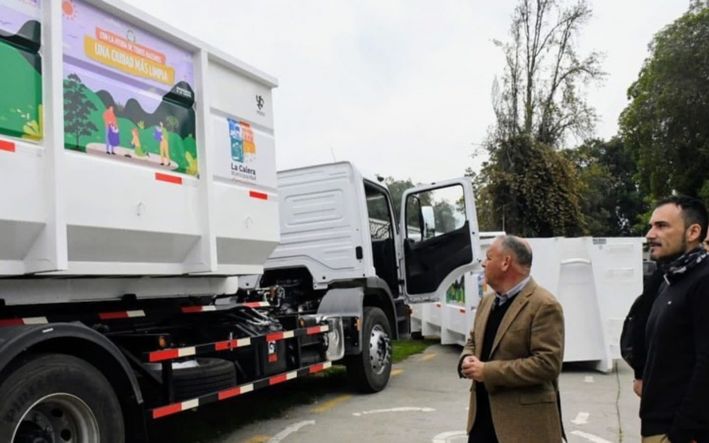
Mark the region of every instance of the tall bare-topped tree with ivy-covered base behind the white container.
<instances>
[{"instance_id":1,"label":"tall bare-topped tree with ivy-covered base behind the white container","mask_svg":"<svg viewBox=\"0 0 709 443\"><path fill-rule=\"evenodd\" d=\"M577 38L591 17L586 0L520 0L511 40L496 42L506 56L493 84L496 124L485 147L489 159L474 177L481 225L527 236L579 235L579 180L557 151L567 136L585 138L596 114L582 86L604 73L600 57L578 53ZM480 206L479 206L480 208ZM479 212L480 213L480 212Z\"/></svg>"}]
</instances>

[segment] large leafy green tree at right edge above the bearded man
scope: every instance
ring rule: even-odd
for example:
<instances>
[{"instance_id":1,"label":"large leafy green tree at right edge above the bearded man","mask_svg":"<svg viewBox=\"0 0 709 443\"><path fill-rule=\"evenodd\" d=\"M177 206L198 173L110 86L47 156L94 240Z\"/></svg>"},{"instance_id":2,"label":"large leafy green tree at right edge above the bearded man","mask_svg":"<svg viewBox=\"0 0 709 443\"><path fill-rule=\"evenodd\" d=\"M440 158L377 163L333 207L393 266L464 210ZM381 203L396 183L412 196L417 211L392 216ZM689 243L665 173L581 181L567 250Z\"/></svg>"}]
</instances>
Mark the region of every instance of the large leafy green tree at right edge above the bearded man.
<instances>
[{"instance_id":1,"label":"large leafy green tree at right edge above the bearded man","mask_svg":"<svg viewBox=\"0 0 709 443\"><path fill-rule=\"evenodd\" d=\"M649 52L620 116L640 186L652 198L678 192L709 201L709 1L693 1Z\"/></svg>"}]
</instances>

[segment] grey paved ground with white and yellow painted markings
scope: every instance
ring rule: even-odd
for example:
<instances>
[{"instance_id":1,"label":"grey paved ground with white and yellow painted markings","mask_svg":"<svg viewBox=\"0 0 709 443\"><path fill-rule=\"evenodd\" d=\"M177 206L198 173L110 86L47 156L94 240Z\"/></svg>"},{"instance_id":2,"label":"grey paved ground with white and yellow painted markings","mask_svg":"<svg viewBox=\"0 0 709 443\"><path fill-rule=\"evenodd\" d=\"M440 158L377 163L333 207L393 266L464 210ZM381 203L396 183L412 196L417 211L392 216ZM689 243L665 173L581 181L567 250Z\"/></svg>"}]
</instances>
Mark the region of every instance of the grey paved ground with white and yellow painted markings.
<instances>
[{"instance_id":1,"label":"grey paved ground with white and yellow painted markings","mask_svg":"<svg viewBox=\"0 0 709 443\"><path fill-rule=\"evenodd\" d=\"M469 381L455 372L459 352L432 346L396 364L381 393L327 396L242 427L222 442L466 442ZM565 367L560 386L569 443L640 442L639 399L623 361L610 374Z\"/></svg>"}]
</instances>

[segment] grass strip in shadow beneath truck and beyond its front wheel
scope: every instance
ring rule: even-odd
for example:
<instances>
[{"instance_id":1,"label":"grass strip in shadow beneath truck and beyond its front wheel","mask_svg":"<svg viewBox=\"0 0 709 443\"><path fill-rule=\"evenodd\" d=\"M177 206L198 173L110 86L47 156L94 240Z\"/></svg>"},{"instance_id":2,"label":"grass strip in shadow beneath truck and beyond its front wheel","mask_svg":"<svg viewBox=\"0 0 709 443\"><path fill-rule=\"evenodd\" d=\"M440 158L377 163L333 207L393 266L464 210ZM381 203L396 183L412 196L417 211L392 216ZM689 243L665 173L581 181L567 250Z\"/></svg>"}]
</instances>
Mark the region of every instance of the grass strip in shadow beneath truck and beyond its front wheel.
<instances>
[{"instance_id":1,"label":"grass strip in shadow beneath truck and beyond its front wheel","mask_svg":"<svg viewBox=\"0 0 709 443\"><path fill-rule=\"evenodd\" d=\"M393 362L423 352L437 340L393 342ZM204 405L196 411L178 413L149 422L151 441L207 443L227 437L239 427L258 420L282 417L289 408L309 405L326 394L351 393L345 366L296 378L294 381L238 396L233 400Z\"/></svg>"}]
</instances>

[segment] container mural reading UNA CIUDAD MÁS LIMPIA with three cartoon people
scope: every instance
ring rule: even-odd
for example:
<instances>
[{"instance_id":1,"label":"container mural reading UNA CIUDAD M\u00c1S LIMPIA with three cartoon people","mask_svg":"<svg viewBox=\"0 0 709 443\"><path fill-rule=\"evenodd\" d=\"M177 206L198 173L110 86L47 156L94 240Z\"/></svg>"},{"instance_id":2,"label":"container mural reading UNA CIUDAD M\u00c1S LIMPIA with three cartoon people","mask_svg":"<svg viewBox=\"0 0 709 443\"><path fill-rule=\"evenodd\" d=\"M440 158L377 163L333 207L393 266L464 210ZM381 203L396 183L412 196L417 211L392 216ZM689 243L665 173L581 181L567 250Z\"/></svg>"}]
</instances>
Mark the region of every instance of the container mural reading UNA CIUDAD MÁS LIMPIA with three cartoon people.
<instances>
[{"instance_id":1,"label":"container mural reading UNA CIUDAD M\u00c1S LIMPIA with three cartoon people","mask_svg":"<svg viewBox=\"0 0 709 443\"><path fill-rule=\"evenodd\" d=\"M65 147L197 175L189 51L63 0Z\"/></svg>"}]
</instances>

